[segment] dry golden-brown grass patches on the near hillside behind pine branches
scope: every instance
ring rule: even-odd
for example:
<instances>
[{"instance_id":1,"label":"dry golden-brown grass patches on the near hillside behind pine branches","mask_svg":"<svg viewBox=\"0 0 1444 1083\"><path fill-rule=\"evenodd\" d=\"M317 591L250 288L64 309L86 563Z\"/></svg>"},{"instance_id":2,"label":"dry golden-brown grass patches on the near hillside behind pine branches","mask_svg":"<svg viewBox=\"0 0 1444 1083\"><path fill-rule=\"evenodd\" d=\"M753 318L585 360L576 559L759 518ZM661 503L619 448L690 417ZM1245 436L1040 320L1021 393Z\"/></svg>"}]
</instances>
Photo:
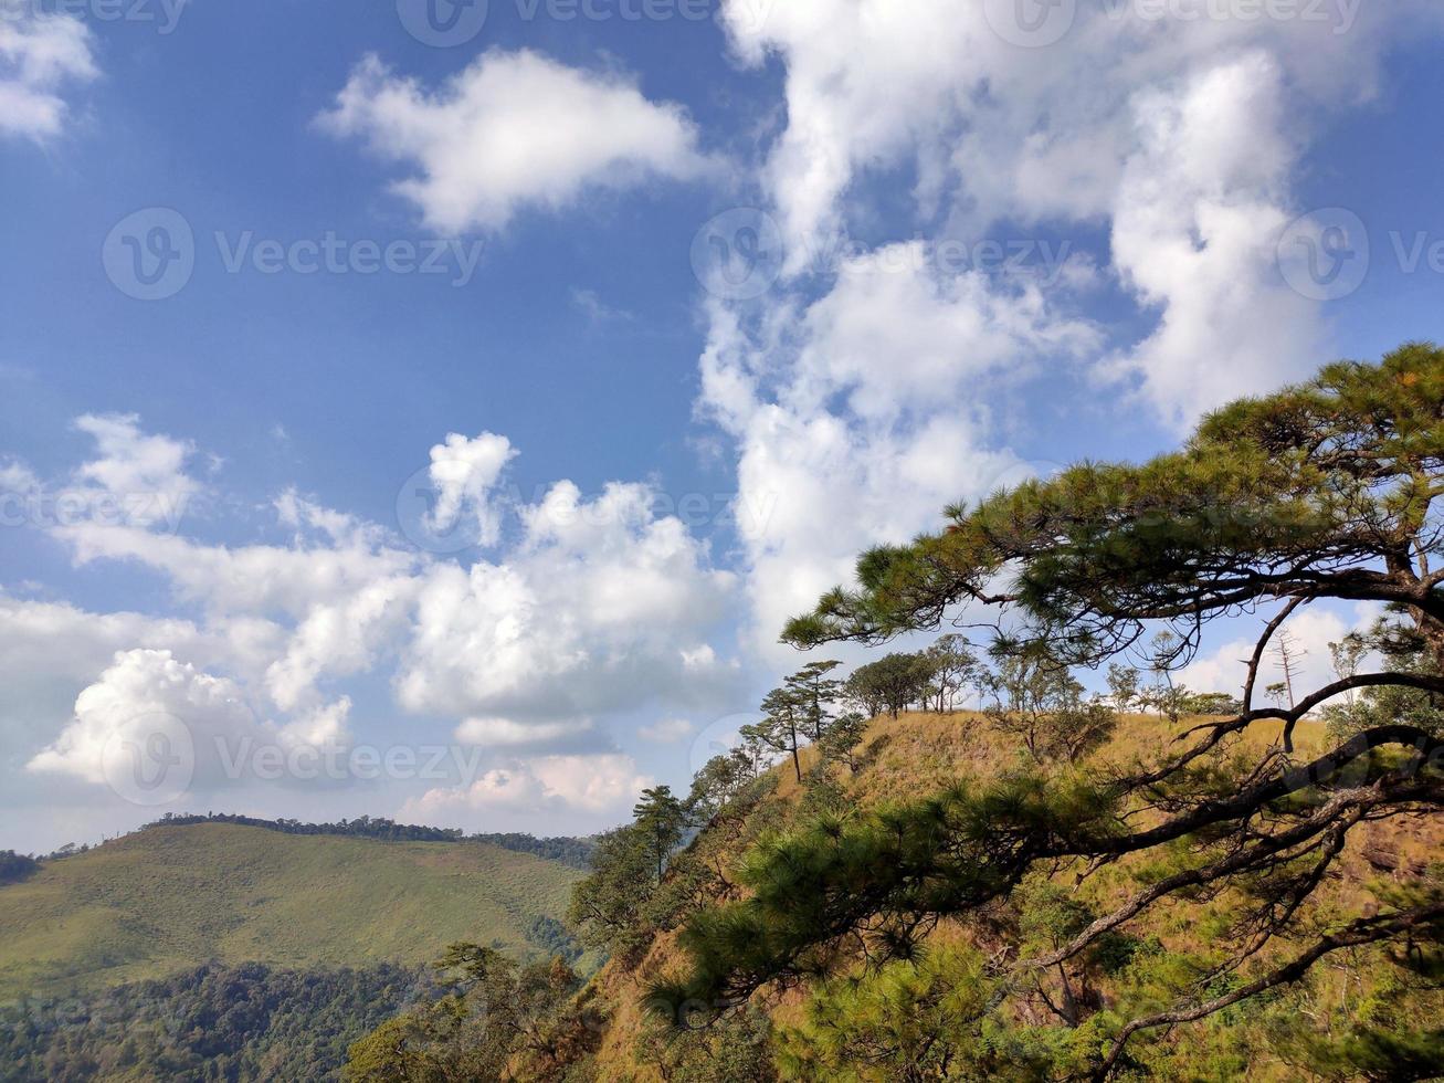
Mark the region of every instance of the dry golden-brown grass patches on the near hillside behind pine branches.
<instances>
[{"instance_id":1,"label":"dry golden-brown grass patches on the near hillside behind pine branches","mask_svg":"<svg viewBox=\"0 0 1444 1083\"><path fill-rule=\"evenodd\" d=\"M1199 719L1184 719L1170 725L1154 716L1131 716L1121 726L1108 747L1100 749L1096 762L1121 762L1134 757L1157 752L1171 742L1183 729ZM1276 729L1261 725L1248 735L1248 741L1266 744L1276 738ZM1305 722L1300 726L1301 752L1307 754L1324 741L1323 726ZM816 749L804 749L803 773L816 762ZM882 718L874 722L866 738L864 764L856 773L846 773L840 780L838 804L853 810L866 810L890 801L920 797L956 781L959 777L988 777L1024 762L1017 742L999 732L986 718L969 713L924 715L908 713L898 719ZM702 849L709 862L716 862L729 874L760 838L760 835L783 829L807 814L819 794L809 784L799 784L791 765L773 771L770 794L745 813L741 820L726 817L715 822L692 845ZM1438 832L1430 825L1412 819L1395 819L1386 823L1366 825L1357 838L1352 838L1341 856L1339 875L1321 891L1323 905L1349 904L1365 907L1378 892L1386 890L1395 869L1419 868L1441 852ZM1112 871L1089 881L1080 891L1097 905L1121 901L1132 888L1131 871L1136 861L1119 862ZM1060 877L1071 888L1071 875ZM1180 902L1161 907L1141 924L1147 936L1175 952L1206 952L1209 937L1229 920L1232 900L1203 902ZM725 1057L739 1043L754 1034L775 1031L777 1027L796 1025L803 1018L804 991L768 988L760 992L752 1008L760 1012L760 1021L751 1030L732 1028L719 1035L706 1031L679 1040L661 1024L643 1011L643 996L648 985L658 978L677 973L684 967L684 954L677 944L676 924L684 920L690 908L683 908L670 920L661 923L650 944L637 957L614 959L593 978L582 999L586 1009L606 1019L592 1053L573 1063L566 1079L627 1079L638 1083L653 1080L719 1080L721 1074L709 1067ZM1001 908L995 913L1004 924L1008 915ZM978 940L976 930L944 921L928 937L930 946L957 940ZM993 950L995 946L983 941ZM1272 953L1272 949L1271 949ZM1190 1079L1242 1077L1261 1080L1298 1079L1295 1067L1282 1063L1269 1053L1269 1041L1264 1037L1269 1027L1287 1025L1297 1018L1301 1008L1314 1004L1369 1006L1370 998L1380 995L1378 982L1388 982L1385 969L1362 970L1330 967L1313 976L1304 993L1289 993L1276 998L1268 1011L1249 1008L1238 1017L1214 1019L1191 1028L1180 1028L1164 1043L1158 1053L1160 1077L1184 1077L1177 1073L1181 1066L1213 1063L1227 1066L1225 1074L1214 1076L1200 1069ZM1110 989L1108 992L1112 992ZM1239 1044L1238 1024L1249 1019L1256 1031ZM767 1045L765 1038L758 1038ZM693 1048L695 1047L695 1048ZM1248 1060L1230 1057L1248 1056ZM770 1060L770 1054L762 1054ZM749 1067L748 1071L760 1069ZM771 1077L771 1076L768 1076ZM801 1076L810 1077L806 1073ZM859 1080L887 1079L887 1070L872 1073L861 1070ZM970 1077L970 1076L969 1076ZM852 1079L849 1076L849 1079Z\"/></svg>"}]
</instances>

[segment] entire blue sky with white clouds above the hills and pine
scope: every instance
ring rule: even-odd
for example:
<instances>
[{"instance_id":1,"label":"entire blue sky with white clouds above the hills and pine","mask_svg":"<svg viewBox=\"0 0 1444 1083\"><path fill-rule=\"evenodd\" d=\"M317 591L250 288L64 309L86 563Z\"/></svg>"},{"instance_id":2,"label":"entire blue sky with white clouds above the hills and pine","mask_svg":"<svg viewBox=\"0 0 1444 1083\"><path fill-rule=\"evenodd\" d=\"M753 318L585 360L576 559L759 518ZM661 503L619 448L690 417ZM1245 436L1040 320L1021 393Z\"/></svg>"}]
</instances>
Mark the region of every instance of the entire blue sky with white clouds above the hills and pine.
<instances>
[{"instance_id":1,"label":"entire blue sky with white clouds above the hills and pine","mask_svg":"<svg viewBox=\"0 0 1444 1083\"><path fill-rule=\"evenodd\" d=\"M435 3L0 0L0 848L606 826L858 549L1438 335L1422 1Z\"/></svg>"}]
</instances>

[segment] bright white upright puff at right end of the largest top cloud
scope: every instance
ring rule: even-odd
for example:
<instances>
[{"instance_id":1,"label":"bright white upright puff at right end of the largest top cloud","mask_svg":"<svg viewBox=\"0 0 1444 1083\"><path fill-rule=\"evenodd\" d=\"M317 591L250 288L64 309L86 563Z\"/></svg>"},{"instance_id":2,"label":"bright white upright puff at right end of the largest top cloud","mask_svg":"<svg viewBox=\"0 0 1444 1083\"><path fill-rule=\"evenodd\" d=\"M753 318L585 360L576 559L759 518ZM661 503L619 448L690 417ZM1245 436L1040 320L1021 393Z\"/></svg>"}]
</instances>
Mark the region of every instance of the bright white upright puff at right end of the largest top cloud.
<instances>
[{"instance_id":1,"label":"bright white upright puff at right end of the largest top cloud","mask_svg":"<svg viewBox=\"0 0 1444 1083\"><path fill-rule=\"evenodd\" d=\"M1268 53L1135 100L1138 150L1113 212L1113 260L1158 329L1116 360L1155 410L1193 425L1317 365L1317 306L1279 279L1294 162L1282 74Z\"/></svg>"}]
</instances>

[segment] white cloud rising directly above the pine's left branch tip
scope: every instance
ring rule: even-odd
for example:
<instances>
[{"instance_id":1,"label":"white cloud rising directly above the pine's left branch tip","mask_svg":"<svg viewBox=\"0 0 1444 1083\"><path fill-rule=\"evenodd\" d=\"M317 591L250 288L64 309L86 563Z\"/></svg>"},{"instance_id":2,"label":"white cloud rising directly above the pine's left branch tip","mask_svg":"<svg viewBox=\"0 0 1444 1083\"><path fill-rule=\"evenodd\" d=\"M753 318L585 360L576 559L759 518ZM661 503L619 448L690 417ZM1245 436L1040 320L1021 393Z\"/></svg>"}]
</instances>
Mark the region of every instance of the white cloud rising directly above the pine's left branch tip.
<instances>
[{"instance_id":1,"label":"white cloud rising directly above the pine's left branch tip","mask_svg":"<svg viewBox=\"0 0 1444 1083\"><path fill-rule=\"evenodd\" d=\"M913 251L849 260L810 305L774 300L760 321L712 308L700 409L735 442L741 507L767 511L739 520L751 643L778 663L783 621L849 580L858 552L1027 472L989 449L965 387L1096 344L1027 279L953 274L900 247Z\"/></svg>"}]
</instances>

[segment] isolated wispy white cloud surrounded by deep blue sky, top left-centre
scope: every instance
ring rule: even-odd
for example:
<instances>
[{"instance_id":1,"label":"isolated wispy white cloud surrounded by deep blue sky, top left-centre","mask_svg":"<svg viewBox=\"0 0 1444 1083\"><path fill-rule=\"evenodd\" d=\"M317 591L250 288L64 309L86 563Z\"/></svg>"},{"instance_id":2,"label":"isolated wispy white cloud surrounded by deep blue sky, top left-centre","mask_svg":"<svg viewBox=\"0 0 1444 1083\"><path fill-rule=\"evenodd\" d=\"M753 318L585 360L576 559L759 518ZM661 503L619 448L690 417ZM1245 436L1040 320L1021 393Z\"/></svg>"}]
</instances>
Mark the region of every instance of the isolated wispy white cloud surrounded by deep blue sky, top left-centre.
<instances>
[{"instance_id":1,"label":"isolated wispy white cloud surrounded by deep blue sky, top left-centre","mask_svg":"<svg viewBox=\"0 0 1444 1083\"><path fill-rule=\"evenodd\" d=\"M588 189L706 168L680 107L530 51L490 51L435 92L368 56L321 123L414 166L394 191L439 231L501 230L527 206L556 211Z\"/></svg>"}]
</instances>

